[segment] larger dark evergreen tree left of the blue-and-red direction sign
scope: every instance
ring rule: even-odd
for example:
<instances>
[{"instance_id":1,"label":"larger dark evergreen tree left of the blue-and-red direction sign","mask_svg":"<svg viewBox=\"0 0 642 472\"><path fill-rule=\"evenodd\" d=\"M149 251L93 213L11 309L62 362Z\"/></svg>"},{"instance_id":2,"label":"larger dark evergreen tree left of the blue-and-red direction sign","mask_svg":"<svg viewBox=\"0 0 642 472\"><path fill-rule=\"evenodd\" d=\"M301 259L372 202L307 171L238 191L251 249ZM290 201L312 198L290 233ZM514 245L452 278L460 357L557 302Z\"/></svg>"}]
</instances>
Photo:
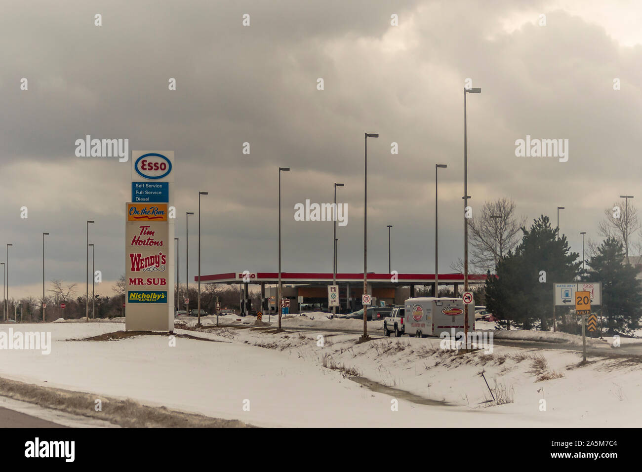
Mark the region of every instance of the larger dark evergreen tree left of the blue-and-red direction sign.
<instances>
[{"instance_id":1,"label":"larger dark evergreen tree left of the blue-and-red direction sign","mask_svg":"<svg viewBox=\"0 0 642 472\"><path fill-rule=\"evenodd\" d=\"M539 320L548 330L553 319L553 283L573 281L582 267L570 252L566 236L557 237L548 216L535 220L515 252L498 263L497 277L486 281L486 306L502 320L515 320L530 329Z\"/></svg>"}]
</instances>

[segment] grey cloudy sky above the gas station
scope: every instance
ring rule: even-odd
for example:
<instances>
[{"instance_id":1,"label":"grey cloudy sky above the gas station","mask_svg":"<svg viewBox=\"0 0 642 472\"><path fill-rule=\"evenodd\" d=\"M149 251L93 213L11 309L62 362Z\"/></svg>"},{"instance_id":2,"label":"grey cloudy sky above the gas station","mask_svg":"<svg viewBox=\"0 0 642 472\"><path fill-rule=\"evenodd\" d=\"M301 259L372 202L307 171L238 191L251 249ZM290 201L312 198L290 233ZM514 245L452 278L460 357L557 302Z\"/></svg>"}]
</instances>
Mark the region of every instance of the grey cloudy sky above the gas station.
<instances>
[{"instance_id":1,"label":"grey cloudy sky above the gas station","mask_svg":"<svg viewBox=\"0 0 642 472\"><path fill-rule=\"evenodd\" d=\"M394 225L392 268L433 272L439 162L448 165L439 191L440 268L449 272L463 254L467 78L482 87L468 100L473 216L499 197L514 198L529 223L542 213L554 222L564 206L560 230L581 251L580 231L597 238L618 195L642 198L636 1L3 3L0 261L13 243L12 297L42 290L44 231L46 278L84 285L85 220L96 221L98 292L110 295L125 272L131 162L76 157L85 135L128 139L130 151L175 151L182 281L184 215L197 211L199 190L209 191L202 272L276 270L279 166L291 167L282 180L283 270L332 270L332 223L297 222L294 205L331 202L333 183L343 182L338 270L362 271L364 132L380 136L369 140L369 270L387 271L386 225ZM568 162L516 157L526 135L568 139Z\"/></svg>"}]
</instances>

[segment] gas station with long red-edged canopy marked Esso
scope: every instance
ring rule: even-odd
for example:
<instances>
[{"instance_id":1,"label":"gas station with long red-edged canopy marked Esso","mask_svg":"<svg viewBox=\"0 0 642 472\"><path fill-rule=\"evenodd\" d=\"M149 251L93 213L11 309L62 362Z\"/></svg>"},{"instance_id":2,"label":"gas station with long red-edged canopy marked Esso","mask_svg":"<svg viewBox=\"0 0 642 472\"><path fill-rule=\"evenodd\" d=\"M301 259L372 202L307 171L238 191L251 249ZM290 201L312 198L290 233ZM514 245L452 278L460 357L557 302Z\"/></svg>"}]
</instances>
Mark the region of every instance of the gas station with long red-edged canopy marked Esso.
<instances>
[{"instance_id":1,"label":"gas station with long red-edged canopy marked Esso","mask_svg":"<svg viewBox=\"0 0 642 472\"><path fill-rule=\"evenodd\" d=\"M198 282L198 276L194 277ZM455 296L464 285L464 274L439 274L440 285L453 285ZM469 274L468 283L480 284L486 280L486 274ZM376 274L367 276L368 292L372 295L373 306L401 305L406 299L415 296L415 287L431 286L435 294L435 274ZM242 298L249 299L248 285L261 286L261 310L275 309L278 297L278 272L227 272L225 274L202 275L201 283L239 284ZM328 311L327 287L333 284L332 272L281 272L281 295L290 300L290 313L300 311ZM350 313L363 308L363 272L354 274L336 274L339 286L338 312ZM266 287L267 286L267 287ZM258 310L259 307L254 307ZM241 313L245 307L241 304Z\"/></svg>"}]
</instances>

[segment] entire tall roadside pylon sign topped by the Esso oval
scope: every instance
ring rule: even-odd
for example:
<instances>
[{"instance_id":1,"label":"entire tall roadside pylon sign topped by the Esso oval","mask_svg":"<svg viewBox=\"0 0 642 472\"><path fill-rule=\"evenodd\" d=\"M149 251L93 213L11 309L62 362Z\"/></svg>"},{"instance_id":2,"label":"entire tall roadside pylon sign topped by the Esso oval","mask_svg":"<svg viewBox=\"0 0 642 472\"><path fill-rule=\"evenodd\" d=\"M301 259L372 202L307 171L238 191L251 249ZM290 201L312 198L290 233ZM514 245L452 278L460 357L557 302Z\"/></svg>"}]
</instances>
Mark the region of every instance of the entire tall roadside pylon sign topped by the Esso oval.
<instances>
[{"instance_id":1,"label":"entire tall roadside pylon sign topped by the Esso oval","mask_svg":"<svg viewBox=\"0 0 642 472\"><path fill-rule=\"evenodd\" d=\"M173 151L132 151L134 202L125 204L125 329L128 331L174 329L174 220L169 217L174 200L173 164ZM154 202L153 195L161 194L151 191L148 197L141 198L139 189L154 189L159 185L168 189L162 193L160 202Z\"/></svg>"}]
</instances>

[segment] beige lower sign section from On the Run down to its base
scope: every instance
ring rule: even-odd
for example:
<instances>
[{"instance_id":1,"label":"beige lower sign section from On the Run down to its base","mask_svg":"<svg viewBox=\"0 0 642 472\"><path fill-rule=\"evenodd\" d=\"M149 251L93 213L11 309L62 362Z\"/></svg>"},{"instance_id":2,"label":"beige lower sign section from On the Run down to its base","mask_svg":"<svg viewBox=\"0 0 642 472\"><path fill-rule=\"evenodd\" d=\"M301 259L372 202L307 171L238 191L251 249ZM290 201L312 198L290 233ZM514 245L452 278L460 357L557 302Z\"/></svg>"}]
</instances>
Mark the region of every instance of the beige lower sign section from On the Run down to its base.
<instances>
[{"instance_id":1,"label":"beige lower sign section from On the Run down to its base","mask_svg":"<svg viewBox=\"0 0 642 472\"><path fill-rule=\"evenodd\" d=\"M125 281L128 330L167 331L169 225L167 204L126 204Z\"/></svg>"}]
</instances>

